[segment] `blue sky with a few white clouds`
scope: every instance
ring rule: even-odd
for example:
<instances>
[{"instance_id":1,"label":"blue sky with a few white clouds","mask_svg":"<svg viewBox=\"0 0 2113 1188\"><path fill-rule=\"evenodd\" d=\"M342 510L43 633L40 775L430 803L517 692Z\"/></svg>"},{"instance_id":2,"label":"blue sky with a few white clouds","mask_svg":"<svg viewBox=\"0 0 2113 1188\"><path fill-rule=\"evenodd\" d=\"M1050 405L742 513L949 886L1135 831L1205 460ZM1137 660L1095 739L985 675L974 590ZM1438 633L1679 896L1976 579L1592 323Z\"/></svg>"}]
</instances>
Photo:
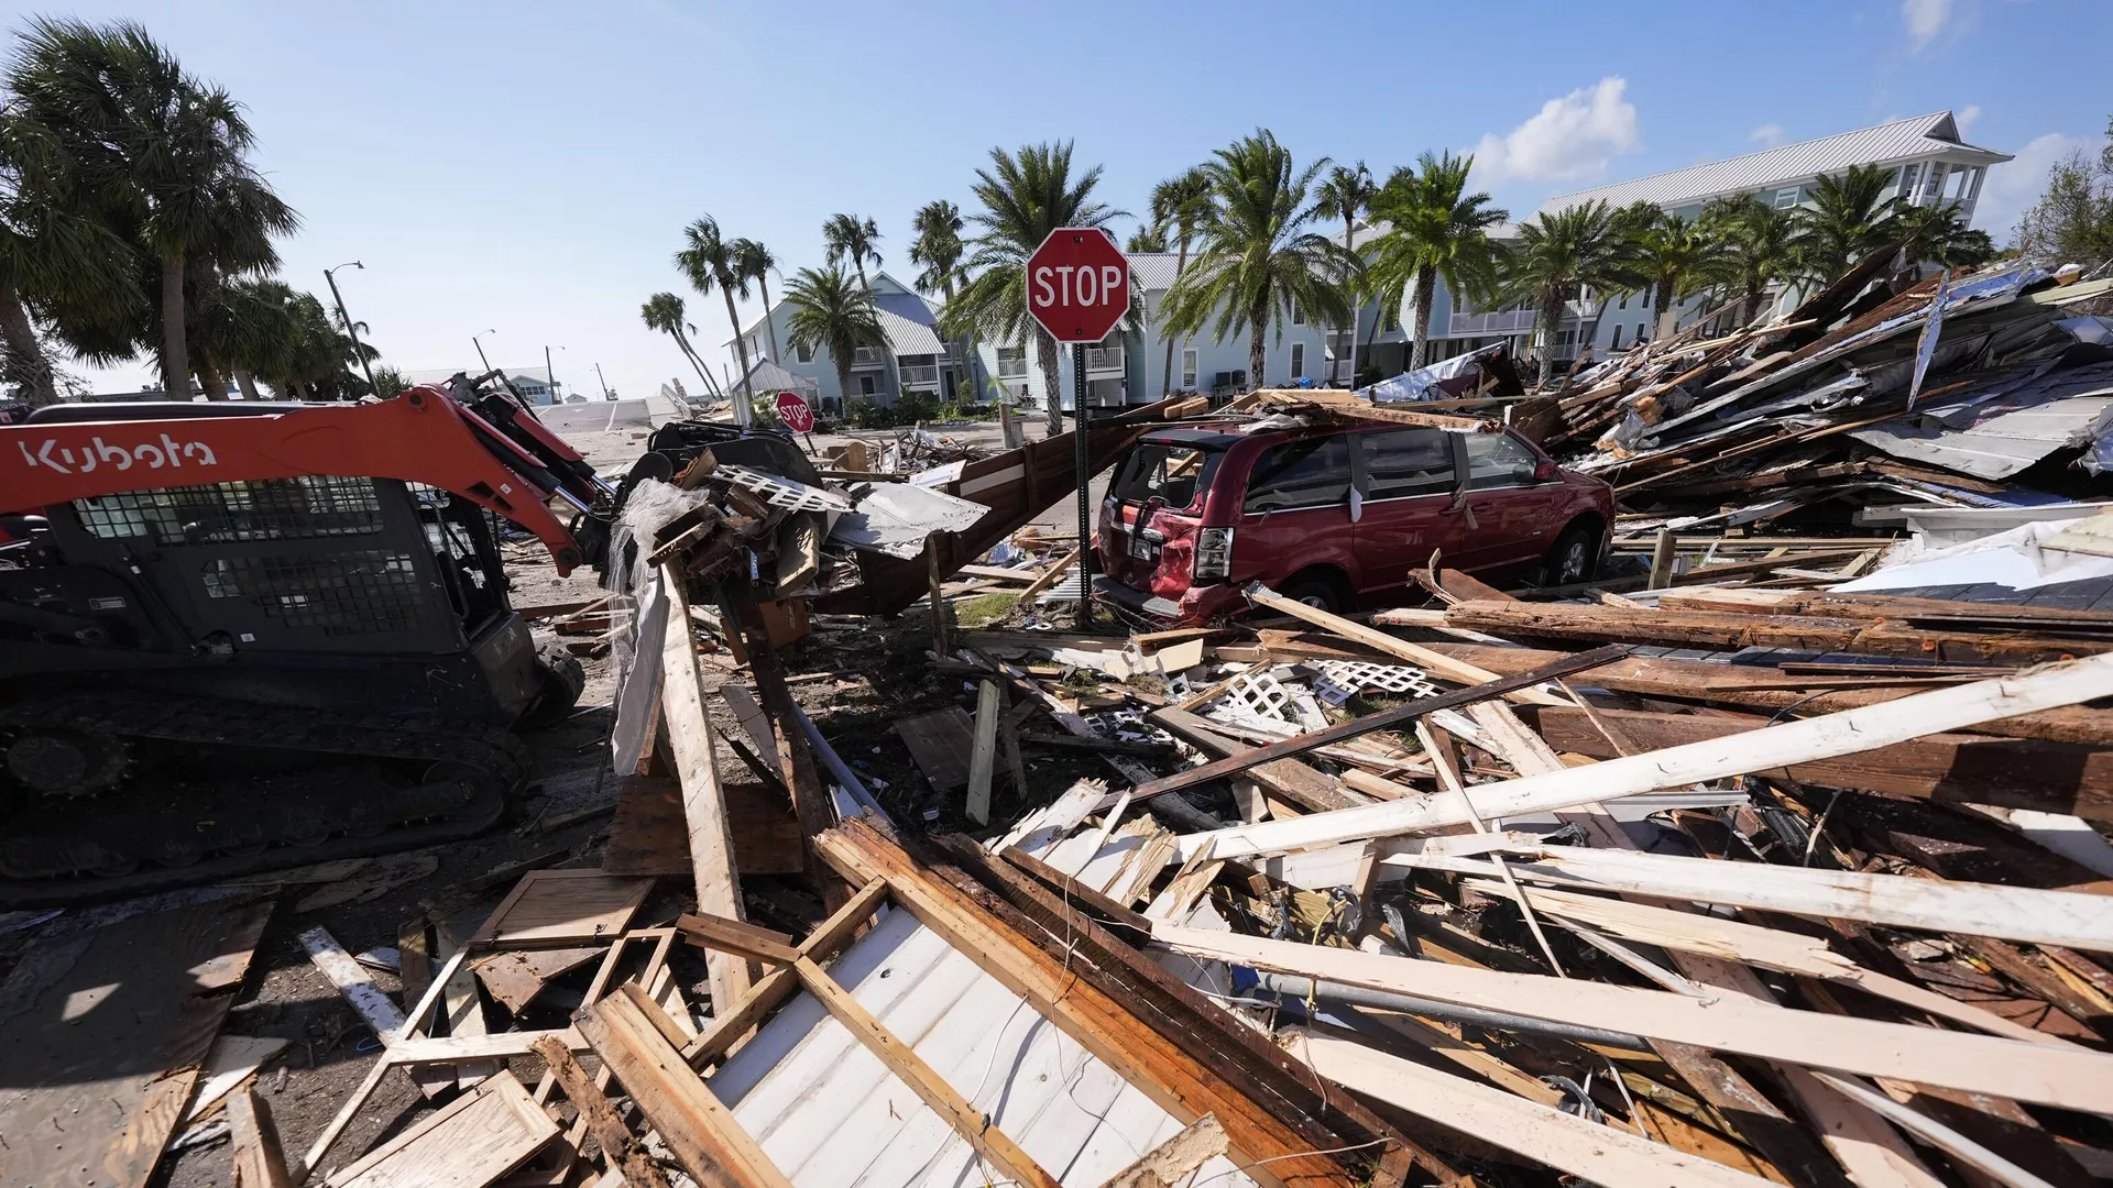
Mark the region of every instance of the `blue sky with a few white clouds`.
<instances>
[{"instance_id":1,"label":"blue sky with a few white clouds","mask_svg":"<svg viewBox=\"0 0 2113 1188\"><path fill-rule=\"evenodd\" d=\"M59 8L15 8L23 13ZM2081 47L2107 0L1771 4L262 4L82 2L137 17L249 108L258 165L300 211L285 277L340 273L353 317L399 368L541 366L623 395L687 370L638 304L689 300L723 351L718 294L670 256L699 214L822 262L835 211L873 216L902 279L911 214L974 203L991 146L1073 140L1099 194L1149 186L1270 127L1302 161L1373 173L1481 148L1502 205L1606 180L1955 110L2007 235L2045 167L2096 144L2113 82ZM1124 224L1128 230L1128 224ZM773 290L780 285L773 285ZM328 294L325 294L328 296ZM759 307L750 302L744 319ZM129 389L148 366L97 374ZM695 376L689 376L695 387Z\"/></svg>"}]
</instances>

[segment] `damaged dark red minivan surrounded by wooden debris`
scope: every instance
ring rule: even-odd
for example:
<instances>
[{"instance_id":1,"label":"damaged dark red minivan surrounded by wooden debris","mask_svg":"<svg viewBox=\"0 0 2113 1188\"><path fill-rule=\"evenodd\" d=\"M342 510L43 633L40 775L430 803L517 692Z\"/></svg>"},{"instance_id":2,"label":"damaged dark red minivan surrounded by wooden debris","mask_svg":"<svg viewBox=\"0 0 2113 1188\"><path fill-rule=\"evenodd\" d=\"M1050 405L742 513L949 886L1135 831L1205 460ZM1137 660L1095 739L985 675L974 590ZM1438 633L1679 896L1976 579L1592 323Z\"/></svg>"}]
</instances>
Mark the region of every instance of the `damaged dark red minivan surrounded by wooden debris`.
<instances>
[{"instance_id":1,"label":"damaged dark red minivan surrounded by wooden debris","mask_svg":"<svg viewBox=\"0 0 2113 1188\"><path fill-rule=\"evenodd\" d=\"M1245 607L1240 590L1346 611L1414 583L1431 552L1507 586L1585 581L1614 490L1513 429L1359 423L1147 433L1101 503L1095 590L1175 624Z\"/></svg>"}]
</instances>

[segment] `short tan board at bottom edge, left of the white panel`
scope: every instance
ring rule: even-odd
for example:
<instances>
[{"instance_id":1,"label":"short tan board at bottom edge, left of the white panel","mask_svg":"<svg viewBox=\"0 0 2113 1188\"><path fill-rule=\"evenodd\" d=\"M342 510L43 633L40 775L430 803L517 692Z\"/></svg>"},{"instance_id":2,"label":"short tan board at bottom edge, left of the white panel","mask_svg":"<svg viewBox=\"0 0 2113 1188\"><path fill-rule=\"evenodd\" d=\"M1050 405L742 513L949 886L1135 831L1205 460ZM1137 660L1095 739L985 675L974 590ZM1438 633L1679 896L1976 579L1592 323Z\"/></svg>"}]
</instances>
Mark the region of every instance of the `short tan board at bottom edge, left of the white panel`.
<instances>
[{"instance_id":1,"label":"short tan board at bottom edge, left of the white panel","mask_svg":"<svg viewBox=\"0 0 2113 1188\"><path fill-rule=\"evenodd\" d=\"M733 1118L647 1015L659 1010L634 983L575 1017L579 1032L630 1093L676 1163L708 1188L792 1188L763 1146Z\"/></svg>"}]
</instances>

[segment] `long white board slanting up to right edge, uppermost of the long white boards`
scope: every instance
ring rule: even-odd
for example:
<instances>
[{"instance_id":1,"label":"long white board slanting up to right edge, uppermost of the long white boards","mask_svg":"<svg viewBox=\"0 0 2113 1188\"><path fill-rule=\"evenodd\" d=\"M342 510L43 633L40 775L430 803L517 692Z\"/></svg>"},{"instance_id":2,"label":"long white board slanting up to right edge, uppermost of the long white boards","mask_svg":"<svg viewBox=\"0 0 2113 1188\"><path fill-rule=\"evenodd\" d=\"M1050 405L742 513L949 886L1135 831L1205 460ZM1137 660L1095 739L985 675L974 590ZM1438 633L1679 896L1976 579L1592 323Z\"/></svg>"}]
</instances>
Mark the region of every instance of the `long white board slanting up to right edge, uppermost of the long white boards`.
<instances>
[{"instance_id":1,"label":"long white board slanting up to right edge, uppermost of the long white boards","mask_svg":"<svg viewBox=\"0 0 2113 1188\"><path fill-rule=\"evenodd\" d=\"M1591 655L1600 653L1587 653L1585 657ZM1534 670L1532 676L1545 679L1540 670ZM2047 664L2018 676L1976 681L1974 685L1914 693L1912 698L1902 698L1897 702L1862 706L1838 714L1788 721L1733 738L1693 742L1686 746L1610 759L1606 763L1591 763L1587 767L1566 767L1540 776L1477 784L1469 788L1469 797L1473 799L1475 814L1483 820L1528 812L1555 812L1638 793L1652 793L1659 788L1678 788L1794 763L1836 759L1843 755L1906 742L1923 734L1959 729L2033 710L2071 706L2105 698L2109 693L2113 693L2113 655L2092 655L2062 664ZM1407 706L1388 712L1428 712L1428 708L1420 710L1420 706L1431 706L1435 700L1441 698L1409 702ZM1469 700L1479 698L1471 695ZM1371 714L1344 725L1369 723L1380 717L1386 714ZM1319 738L1321 734L1329 731L1308 734L1302 736L1302 740ZM1289 740L1289 744L1297 742L1299 740ZM1261 748L1251 755L1264 755L1268 750L1274 748ZM1190 776L1207 769L1209 767L1196 767ZM1139 788L1139 795L1143 795L1143 788ZM1441 824L1466 824L1469 820L1471 816L1466 805L1456 799L1382 801L1376 805L1316 812L1295 820L1270 820L1261 824L1185 835L1181 837L1179 854L1185 856L1194 852L1194 848L1207 837L1215 846L1215 856L1245 858L1249 854L1276 854L1338 841L1361 841L1365 837L1416 833Z\"/></svg>"}]
</instances>

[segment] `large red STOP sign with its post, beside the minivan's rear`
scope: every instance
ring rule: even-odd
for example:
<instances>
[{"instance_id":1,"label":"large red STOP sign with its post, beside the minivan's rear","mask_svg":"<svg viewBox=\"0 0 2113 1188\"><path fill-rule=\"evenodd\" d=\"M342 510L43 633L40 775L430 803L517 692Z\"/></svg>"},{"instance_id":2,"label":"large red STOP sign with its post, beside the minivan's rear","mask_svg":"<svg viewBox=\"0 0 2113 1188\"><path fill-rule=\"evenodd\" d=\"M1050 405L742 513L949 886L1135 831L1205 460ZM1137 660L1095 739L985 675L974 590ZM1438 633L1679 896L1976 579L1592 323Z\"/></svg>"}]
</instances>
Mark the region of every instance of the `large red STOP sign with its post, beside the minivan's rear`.
<instances>
[{"instance_id":1,"label":"large red STOP sign with its post, beside the minivan's rear","mask_svg":"<svg viewBox=\"0 0 2113 1188\"><path fill-rule=\"evenodd\" d=\"M1078 467L1078 628L1092 630L1092 501L1086 480L1086 345L1107 338L1130 313L1130 258L1097 226L1052 230L1027 258L1027 313L1059 342L1071 342L1071 438ZM1050 376L1054 380L1054 376ZM1056 391L1048 393L1056 400Z\"/></svg>"}]
</instances>

